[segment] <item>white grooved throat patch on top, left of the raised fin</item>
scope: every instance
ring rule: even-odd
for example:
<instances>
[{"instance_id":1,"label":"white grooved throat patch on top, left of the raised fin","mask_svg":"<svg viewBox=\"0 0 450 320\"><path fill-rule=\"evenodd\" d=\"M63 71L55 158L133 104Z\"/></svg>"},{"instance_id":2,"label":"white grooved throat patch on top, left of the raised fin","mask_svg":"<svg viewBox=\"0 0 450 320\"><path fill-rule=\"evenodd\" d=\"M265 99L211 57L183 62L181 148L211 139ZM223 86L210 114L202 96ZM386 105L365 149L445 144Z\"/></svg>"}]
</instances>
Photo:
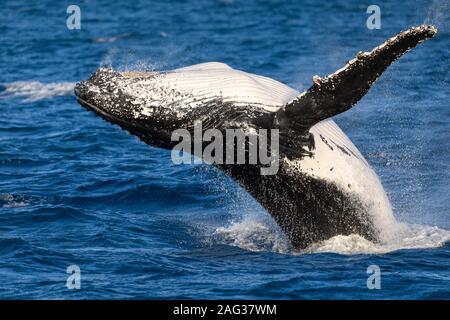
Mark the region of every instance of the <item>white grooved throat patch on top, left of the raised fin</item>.
<instances>
[{"instance_id":1,"label":"white grooved throat patch on top, left of the raised fin","mask_svg":"<svg viewBox=\"0 0 450 320\"><path fill-rule=\"evenodd\" d=\"M132 80L140 79L124 86L125 94L140 96L142 101L150 102L149 108L158 103L164 107L173 98L179 103L171 106L171 110L178 107L180 112L204 107L217 98L233 106L254 106L274 112L298 95L296 90L281 82L219 62L200 63L168 72L123 75ZM155 87L155 90L148 90L149 87Z\"/></svg>"}]
</instances>

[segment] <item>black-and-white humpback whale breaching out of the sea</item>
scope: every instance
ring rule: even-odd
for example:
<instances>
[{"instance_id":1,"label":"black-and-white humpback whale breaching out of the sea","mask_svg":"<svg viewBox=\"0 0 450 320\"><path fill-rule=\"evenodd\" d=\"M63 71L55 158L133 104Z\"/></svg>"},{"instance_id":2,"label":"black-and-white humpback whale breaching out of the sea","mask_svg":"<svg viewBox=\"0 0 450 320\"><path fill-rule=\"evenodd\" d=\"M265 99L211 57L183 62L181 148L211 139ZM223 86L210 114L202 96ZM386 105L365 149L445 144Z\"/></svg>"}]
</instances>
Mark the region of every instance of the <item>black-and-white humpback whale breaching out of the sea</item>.
<instances>
[{"instance_id":1,"label":"black-and-white humpback whale breaching out of the sea","mask_svg":"<svg viewBox=\"0 0 450 320\"><path fill-rule=\"evenodd\" d=\"M77 83L88 110L137 136L170 149L171 133L240 128L279 130L279 170L261 175L257 164L220 164L274 218L294 248L336 235L359 234L374 242L394 224L376 173L331 119L352 108L397 58L431 38L434 26L402 31L326 77L313 77L300 93L273 79L218 62L161 72L99 68Z\"/></svg>"}]
</instances>

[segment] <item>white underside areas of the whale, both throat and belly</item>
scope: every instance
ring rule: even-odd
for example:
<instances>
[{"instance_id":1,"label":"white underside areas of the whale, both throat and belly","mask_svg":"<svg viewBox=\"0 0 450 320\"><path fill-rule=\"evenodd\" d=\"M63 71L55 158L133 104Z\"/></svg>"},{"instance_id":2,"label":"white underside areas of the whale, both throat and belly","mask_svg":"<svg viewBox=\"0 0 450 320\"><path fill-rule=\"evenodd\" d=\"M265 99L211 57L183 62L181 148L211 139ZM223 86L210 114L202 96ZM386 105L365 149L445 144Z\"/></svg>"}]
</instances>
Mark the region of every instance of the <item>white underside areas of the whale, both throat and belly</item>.
<instances>
[{"instance_id":1,"label":"white underside areas of the whale, both throat and belly","mask_svg":"<svg viewBox=\"0 0 450 320\"><path fill-rule=\"evenodd\" d=\"M142 77L142 74L133 72L123 75L126 78ZM156 75L126 83L121 88L134 97L133 103L143 107L144 115L151 114L154 107L164 105L170 105L172 110L176 106L176 111L183 114L217 97L233 105L275 112L299 95L298 91L276 80L235 70L218 62L197 64ZM291 162L293 170L332 182L356 195L373 216L381 239L388 241L396 222L376 173L333 120L317 123L310 132L315 138L314 155ZM390 232L383 234L383 230Z\"/></svg>"}]
</instances>

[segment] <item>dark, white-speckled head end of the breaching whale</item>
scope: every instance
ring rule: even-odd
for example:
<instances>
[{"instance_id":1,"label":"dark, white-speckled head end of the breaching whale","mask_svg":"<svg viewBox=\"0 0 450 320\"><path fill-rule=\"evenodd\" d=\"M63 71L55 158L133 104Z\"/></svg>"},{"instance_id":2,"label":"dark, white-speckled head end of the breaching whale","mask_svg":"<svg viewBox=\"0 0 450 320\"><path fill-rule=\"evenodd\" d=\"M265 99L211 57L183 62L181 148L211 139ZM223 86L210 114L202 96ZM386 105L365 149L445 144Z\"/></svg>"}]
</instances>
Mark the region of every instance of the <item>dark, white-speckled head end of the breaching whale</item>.
<instances>
[{"instance_id":1,"label":"dark, white-speckled head end of the breaching whale","mask_svg":"<svg viewBox=\"0 0 450 320\"><path fill-rule=\"evenodd\" d=\"M186 123L186 119L166 105L155 103L147 108L139 90L127 90L152 76L152 73L120 73L111 68L99 68L89 79L77 83L74 92L83 107L104 120L119 125L148 144L170 148L173 145L171 132Z\"/></svg>"}]
</instances>

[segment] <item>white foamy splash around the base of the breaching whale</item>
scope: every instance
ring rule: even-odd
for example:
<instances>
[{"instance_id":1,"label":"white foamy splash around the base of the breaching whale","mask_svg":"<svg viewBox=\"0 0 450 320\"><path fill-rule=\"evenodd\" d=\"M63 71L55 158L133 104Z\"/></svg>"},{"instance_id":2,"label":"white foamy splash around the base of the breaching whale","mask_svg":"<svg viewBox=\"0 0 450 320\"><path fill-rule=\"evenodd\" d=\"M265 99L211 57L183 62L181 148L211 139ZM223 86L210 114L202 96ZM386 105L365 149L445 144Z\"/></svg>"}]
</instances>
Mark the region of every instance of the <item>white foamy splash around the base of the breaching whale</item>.
<instances>
[{"instance_id":1,"label":"white foamy splash around the base of the breaching whale","mask_svg":"<svg viewBox=\"0 0 450 320\"><path fill-rule=\"evenodd\" d=\"M436 248L450 241L450 231L438 227L398 223L397 234L384 243L373 243L357 234L337 235L314 243L304 250L295 250L281 230L255 217L243 217L215 230L216 238L227 245L249 251L273 251L284 254L338 253L384 254L403 249Z\"/></svg>"}]
</instances>

